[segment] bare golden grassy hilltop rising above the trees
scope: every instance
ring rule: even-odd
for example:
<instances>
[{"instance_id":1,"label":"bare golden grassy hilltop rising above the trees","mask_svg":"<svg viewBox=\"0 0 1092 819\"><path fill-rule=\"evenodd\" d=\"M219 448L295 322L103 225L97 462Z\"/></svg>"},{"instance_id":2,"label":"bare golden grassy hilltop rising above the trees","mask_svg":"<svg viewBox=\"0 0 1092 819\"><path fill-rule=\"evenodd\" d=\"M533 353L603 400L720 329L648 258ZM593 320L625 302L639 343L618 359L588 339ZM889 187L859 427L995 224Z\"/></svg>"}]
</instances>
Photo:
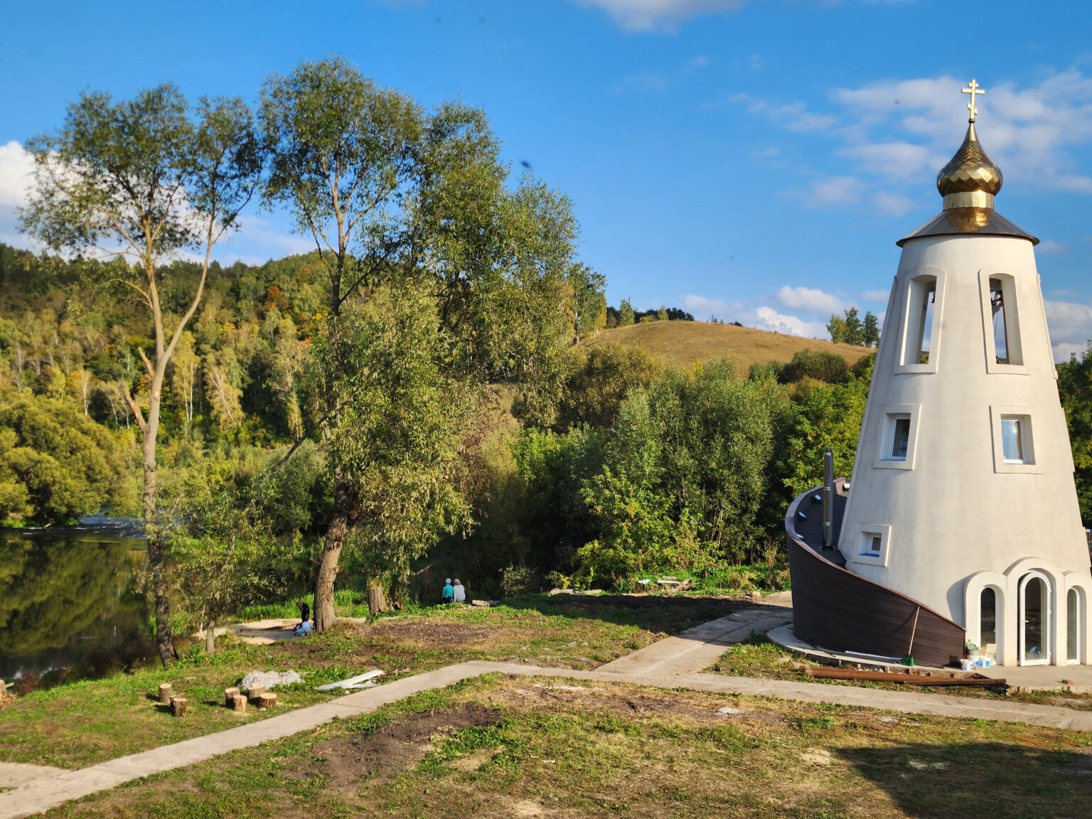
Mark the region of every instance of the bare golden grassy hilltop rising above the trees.
<instances>
[{"instance_id":1,"label":"bare golden grassy hilltop rising above the trees","mask_svg":"<svg viewBox=\"0 0 1092 819\"><path fill-rule=\"evenodd\" d=\"M800 339L769 330L707 324L701 321L650 321L613 330L604 330L582 342L594 347L600 344L622 344L641 347L663 364L689 367L713 356L728 353L736 363L736 371L746 376L755 363L787 363L794 353L811 348L838 353L851 366L869 351L848 344L834 344L818 339Z\"/></svg>"}]
</instances>

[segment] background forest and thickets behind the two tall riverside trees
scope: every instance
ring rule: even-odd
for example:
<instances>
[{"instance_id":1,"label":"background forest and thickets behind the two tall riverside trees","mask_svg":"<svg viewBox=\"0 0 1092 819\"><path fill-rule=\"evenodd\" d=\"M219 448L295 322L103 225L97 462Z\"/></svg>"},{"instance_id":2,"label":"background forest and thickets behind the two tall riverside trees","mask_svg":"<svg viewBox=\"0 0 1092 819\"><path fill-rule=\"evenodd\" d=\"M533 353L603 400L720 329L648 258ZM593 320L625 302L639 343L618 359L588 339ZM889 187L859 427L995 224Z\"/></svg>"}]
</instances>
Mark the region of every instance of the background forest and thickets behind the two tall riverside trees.
<instances>
[{"instance_id":1,"label":"background forest and thickets behind the two tall riverside trees","mask_svg":"<svg viewBox=\"0 0 1092 819\"><path fill-rule=\"evenodd\" d=\"M140 459L124 394L146 404L139 363L150 342L146 318L110 284L110 265L122 263L0 247L8 525L136 511ZM199 270L174 262L163 275L170 305ZM359 537L354 572L387 572L396 586L396 575L436 565L434 573L461 571L495 592L506 579L510 591L547 581L625 587L661 569L775 563L784 503L814 482L818 450L834 446L840 468L850 467L866 367L802 354L750 373L725 359L681 371L640 349L584 348L578 333L604 323L602 281L581 266L565 281L561 377L534 396L514 379L491 380L462 432L456 485L466 517L401 561ZM277 544L256 557L290 567L282 586L313 571L330 506L323 442L272 467L307 437L308 370L327 286L317 253L212 264L164 395L164 508L179 522L180 559L207 561L212 542L238 538L246 520ZM209 521L216 520L232 531L215 531ZM240 590L242 597L277 591Z\"/></svg>"}]
</instances>

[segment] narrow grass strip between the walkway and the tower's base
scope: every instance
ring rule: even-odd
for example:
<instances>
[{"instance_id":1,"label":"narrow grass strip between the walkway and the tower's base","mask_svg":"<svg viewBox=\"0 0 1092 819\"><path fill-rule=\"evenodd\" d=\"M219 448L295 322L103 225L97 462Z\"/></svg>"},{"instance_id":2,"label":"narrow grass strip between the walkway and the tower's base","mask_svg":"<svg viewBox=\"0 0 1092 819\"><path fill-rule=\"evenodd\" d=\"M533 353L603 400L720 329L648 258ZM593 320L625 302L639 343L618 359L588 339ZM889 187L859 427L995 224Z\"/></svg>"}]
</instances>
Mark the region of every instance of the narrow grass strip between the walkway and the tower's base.
<instances>
[{"instance_id":1,"label":"narrow grass strip between the walkway and the tower's base","mask_svg":"<svg viewBox=\"0 0 1092 819\"><path fill-rule=\"evenodd\" d=\"M929 688L927 686L903 686L897 682L866 682L842 679L809 677L807 667L819 667L802 656L778 645L765 634L752 634L749 640L732 646L710 669L731 677L765 677L767 679L792 679L800 682L822 682L832 686L855 686L857 688L881 688L891 691L914 691L951 697L975 697L1002 699L1009 702L1024 702L1038 705L1063 705L1078 711L1092 711L1092 696L1067 691L1026 691L1008 693L1004 686L990 688L962 688L959 686Z\"/></svg>"}]
</instances>

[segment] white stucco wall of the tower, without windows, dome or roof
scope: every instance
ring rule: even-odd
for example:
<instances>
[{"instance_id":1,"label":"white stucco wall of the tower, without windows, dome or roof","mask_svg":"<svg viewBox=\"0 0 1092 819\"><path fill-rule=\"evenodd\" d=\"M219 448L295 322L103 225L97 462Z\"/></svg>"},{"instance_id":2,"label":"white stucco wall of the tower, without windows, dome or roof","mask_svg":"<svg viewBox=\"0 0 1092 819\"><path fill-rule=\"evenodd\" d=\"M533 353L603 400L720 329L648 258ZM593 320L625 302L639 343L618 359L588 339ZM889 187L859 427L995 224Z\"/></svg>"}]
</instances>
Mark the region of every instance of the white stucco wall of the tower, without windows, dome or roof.
<instances>
[{"instance_id":1,"label":"white stucco wall of the tower, without windows, dome or roof","mask_svg":"<svg viewBox=\"0 0 1092 819\"><path fill-rule=\"evenodd\" d=\"M911 281L923 274L937 285L929 361L906 364L903 339L918 313L911 305L914 317L907 316L907 298ZM1016 300L1010 296L1006 304L1010 339L1018 323L1021 365L997 364L993 349L988 278L1006 276ZM889 413L911 416L905 462L878 460ZM1030 418L1034 464L1004 463L1002 414ZM1092 589L1072 471L1031 242L981 235L909 240L888 304L839 539L846 568L964 626L964 594L980 572L1004 575L1038 559ZM862 554L862 532L883 535L879 556ZM1016 639L1008 612L1014 606L1006 601L1006 641ZM1052 642L1064 646L1065 617L1055 617L1054 625Z\"/></svg>"}]
</instances>

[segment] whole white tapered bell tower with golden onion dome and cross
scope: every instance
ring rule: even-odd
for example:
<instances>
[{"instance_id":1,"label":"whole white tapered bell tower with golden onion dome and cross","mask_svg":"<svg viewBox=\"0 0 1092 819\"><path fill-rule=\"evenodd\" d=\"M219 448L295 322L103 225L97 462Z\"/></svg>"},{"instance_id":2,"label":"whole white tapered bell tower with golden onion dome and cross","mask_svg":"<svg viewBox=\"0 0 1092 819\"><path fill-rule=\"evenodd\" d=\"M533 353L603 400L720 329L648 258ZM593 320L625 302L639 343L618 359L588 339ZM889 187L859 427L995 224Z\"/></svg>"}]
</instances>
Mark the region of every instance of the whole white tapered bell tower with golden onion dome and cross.
<instances>
[{"instance_id":1,"label":"whole white tapered bell tower with golden onion dome and cross","mask_svg":"<svg viewBox=\"0 0 1092 819\"><path fill-rule=\"evenodd\" d=\"M1035 270L975 133L898 244L838 547L1001 665L1092 663L1089 549Z\"/></svg>"}]
</instances>

